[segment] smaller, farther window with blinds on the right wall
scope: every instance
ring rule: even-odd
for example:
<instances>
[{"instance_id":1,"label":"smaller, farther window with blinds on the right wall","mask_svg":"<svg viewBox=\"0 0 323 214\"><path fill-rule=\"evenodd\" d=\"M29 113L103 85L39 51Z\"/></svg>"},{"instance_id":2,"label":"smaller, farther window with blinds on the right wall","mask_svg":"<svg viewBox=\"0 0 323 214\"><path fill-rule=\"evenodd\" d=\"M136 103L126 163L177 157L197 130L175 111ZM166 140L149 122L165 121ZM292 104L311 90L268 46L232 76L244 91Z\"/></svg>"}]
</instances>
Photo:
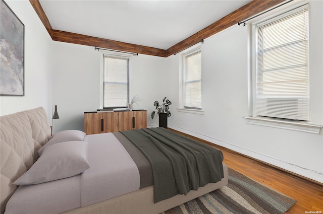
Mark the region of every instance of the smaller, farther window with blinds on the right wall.
<instances>
[{"instance_id":1,"label":"smaller, farther window with blinds on the right wall","mask_svg":"<svg viewBox=\"0 0 323 214\"><path fill-rule=\"evenodd\" d=\"M183 56L183 107L202 108L202 63L201 50Z\"/></svg>"}]
</instances>

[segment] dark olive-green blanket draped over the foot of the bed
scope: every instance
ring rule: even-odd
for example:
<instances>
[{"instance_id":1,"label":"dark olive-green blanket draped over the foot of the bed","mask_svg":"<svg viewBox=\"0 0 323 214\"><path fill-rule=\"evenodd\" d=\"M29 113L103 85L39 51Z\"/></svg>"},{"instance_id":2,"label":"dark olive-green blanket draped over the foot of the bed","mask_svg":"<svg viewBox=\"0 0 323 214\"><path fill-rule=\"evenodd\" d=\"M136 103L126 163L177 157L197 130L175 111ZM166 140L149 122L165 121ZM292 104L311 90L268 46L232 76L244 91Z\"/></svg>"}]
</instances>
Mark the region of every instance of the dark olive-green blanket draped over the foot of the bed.
<instances>
[{"instance_id":1,"label":"dark olive-green blanket draped over the foot of the bed","mask_svg":"<svg viewBox=\"0 0 323 214\"><path fill-rule=\"evenodd\" d=\"M223 154L166 128L121 131L152 167L154 202L220 181Z\"/></svg>"}]
</instances>

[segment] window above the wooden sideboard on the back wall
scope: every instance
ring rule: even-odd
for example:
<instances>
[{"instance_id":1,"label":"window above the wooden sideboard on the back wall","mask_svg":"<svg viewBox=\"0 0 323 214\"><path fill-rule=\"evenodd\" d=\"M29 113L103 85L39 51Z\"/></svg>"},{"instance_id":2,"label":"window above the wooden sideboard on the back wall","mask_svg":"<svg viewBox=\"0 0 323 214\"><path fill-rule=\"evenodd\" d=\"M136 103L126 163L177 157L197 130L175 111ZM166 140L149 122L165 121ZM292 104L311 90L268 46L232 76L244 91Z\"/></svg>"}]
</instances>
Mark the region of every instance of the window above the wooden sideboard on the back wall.
<instances>
[{"instance_id":1,"label":"window above the wooden sideboard on the back wall","mask_svg":"<svg viewBox=\"0 0 323 214\"><path fill-rule=\"evenodd\" d=\"M129 57L103 54L103 108L129 103Z\"/></svg>"}]
</instances>

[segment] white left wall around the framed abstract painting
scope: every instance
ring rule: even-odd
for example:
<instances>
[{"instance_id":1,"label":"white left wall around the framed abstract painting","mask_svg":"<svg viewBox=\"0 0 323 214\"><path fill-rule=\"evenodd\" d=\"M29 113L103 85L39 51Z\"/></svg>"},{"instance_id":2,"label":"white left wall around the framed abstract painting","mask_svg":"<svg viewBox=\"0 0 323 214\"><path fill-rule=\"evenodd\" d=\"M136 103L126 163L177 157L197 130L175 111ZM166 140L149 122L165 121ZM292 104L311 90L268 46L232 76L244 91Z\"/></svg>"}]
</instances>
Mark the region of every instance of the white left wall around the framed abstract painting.
<instances>
[{"instance_id":1,"label":"white left wall around the framed abstract painting","mask_svg":"<svg viewBox=\"0 0 323 214\"><path fill-rule=\"evenodd\" d=\"M42 106L51 114L52 40L29 1L6 1L25 25L25 96L0 97L0 115Z\"/></svg>"}]
</instances>

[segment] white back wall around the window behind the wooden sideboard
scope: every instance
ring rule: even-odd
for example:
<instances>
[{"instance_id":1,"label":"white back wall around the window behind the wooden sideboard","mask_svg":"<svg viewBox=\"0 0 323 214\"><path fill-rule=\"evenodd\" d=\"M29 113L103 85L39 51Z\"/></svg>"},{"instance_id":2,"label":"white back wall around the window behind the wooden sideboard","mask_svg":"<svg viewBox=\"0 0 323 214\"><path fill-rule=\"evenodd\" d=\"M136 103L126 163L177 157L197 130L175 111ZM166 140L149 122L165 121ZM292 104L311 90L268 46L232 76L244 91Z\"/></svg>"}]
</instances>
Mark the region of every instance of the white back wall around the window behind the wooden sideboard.
<instances>
[{"instance_id":1,"label":"white back wall around the window behind the wooden sideboard","mask_svg":"<svg viewBox=\"0 0 323 214\"><path fill-rule=\"evenodd\" d=\"M54 132L84 129L84 112L100 106L100 58L94 47L53 42L53 105L58 105L60 119L54 120ZM138 95L143 101L134 109L146 109L148 126L153 102L167 94L166 58L139 54L130 57L130 99Z\"/></svg>"}]
</instances>

